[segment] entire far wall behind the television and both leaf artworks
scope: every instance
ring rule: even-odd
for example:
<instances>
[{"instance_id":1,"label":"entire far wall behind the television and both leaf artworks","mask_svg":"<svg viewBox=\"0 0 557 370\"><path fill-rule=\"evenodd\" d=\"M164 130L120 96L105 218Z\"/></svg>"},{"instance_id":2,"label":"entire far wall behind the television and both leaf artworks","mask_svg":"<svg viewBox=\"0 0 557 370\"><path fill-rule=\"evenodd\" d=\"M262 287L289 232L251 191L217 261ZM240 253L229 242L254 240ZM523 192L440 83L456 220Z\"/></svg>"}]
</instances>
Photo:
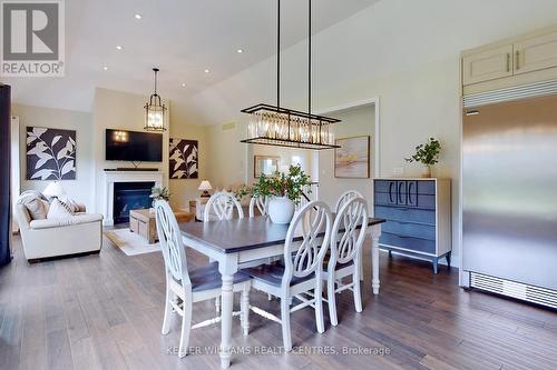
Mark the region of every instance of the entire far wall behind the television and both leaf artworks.
<instances>
[{"instance_id":1,"label":"entire far wall behind the television and both leaf artworks","mask_svg":"<svg viewBox=\"0 0 557 370\"><path fill-rule=\"evenodd\" d=\"M123 91L97 89L92 113L50 109L22 104L12 104L12 114L20 118L21 188L42 191L48 181L26 180L26 127L47 127L77 131L77 173L76 180L63 180L68 194L84 202L91 212L102 212L104 169L133 167L130 162L105 160L105 130L125 129L143 131L145 126L144 104L147 97ZM207 126L198 126L195 114L186 106L169 107L167 124L169 132L164 133L164 161L160 163L140 163L139 167L157 168L163 171L165 183L169 186L175 208L188 209L188 201L195 199L201 181L208 176L209 146ZM167 180L168 177L168 138L197 140L199 143L199 179Z\"/></svg>"}]
</instances>

